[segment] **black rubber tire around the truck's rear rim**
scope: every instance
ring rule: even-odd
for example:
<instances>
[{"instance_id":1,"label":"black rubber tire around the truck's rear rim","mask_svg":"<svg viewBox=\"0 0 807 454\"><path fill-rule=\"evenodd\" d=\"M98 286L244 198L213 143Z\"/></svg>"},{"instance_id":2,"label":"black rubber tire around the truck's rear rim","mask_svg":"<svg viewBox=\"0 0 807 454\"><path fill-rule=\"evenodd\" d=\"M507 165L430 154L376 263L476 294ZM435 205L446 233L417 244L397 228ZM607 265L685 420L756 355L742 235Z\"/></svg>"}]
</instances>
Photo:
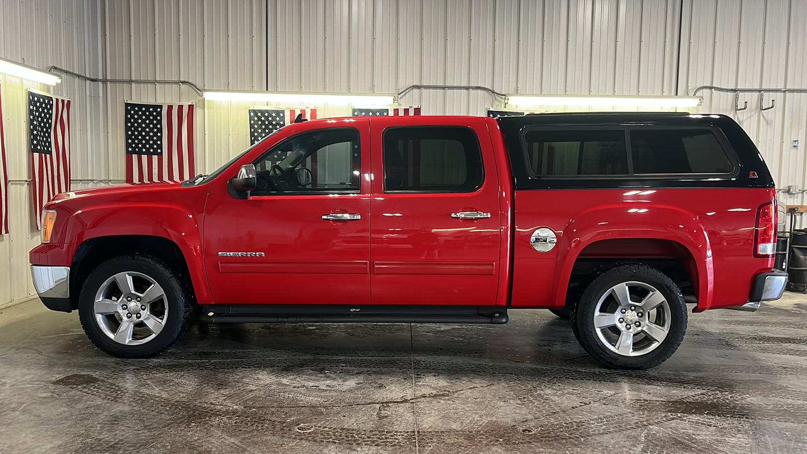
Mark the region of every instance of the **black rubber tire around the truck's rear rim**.
<instances>
[{"instance_id":1,"label":"black rubber tire around the truck's rear rim","mask_svg":"<svg viewBox=\"0 0 807 454\"><path fill-rule=\"evenodd\" d=\"M657 346L653 347L652 350L650 350L649 347L652 346L654 340L643 332L644 329L650 328L647 321L645 321L645 328L638 330L635 334L629 333L631 334L629 338L633 338L633 335L639 335L639 343L644 342L645 347L649 350L644 354L634 356L621 355L617 353L617 351L606 347L604 340L600 339L598 330L594 325L594 317L597 312L597 306L600 304L600 299L603 299L603 305L609 304L609 307L612 308L620 307L617 299L614 296L609 296L611 294L610 291L611 288L615 288L619 284L627 282L642 283L657 290L661 296L663 296L664 301L666 301L669 312L668 315L661 316L663 320L666 320L666 317L669 318L669 327L666 332L666 337L663 338ZM637 304L639 302L638 298L642 296L641 294L635 294L635 292L642 292L643 289L640 286L634 287L633 285L629 288L634 289L632 290L634 293L629 294L630 301L633 304ZM646 289L644 291L650 292ZM609 300L609 298L611 299ZM659 305L659 308L663 308L663 305ZM666 310L667 309L663 309L660 312L665 312ZM600 314L606 313L610 314L610 310L600 312ZM638 309L637 313L642 314L641 308ZM658 313L653 311L652 314L646 313L643 315L645 317L657 317ZM653 323L659 322L659 320L659 318L655 318ZM684 339L684 333L687 330L687 306L684 303L684 296L681 294L678 286L663 272L638 263L625 264L601 272L600 275L585 288L579 304L576 305L571 312L571 323L575 338L577 338L583 349L605 367L632 370L648 369L662 364L678 349L681 341ZM640 321L639 323L641 326L642 322ZM613 335L619 338L620 333L626 331L626 329L623 329L623 326L625 326L625 324L620 323L619 326L614 326L613 330L611 328L607 330L611 330L614 333ZM631 326L630 329L633 330L633 326ZM602 330L602 332L605 333L606 331ZM659 338L660 337L661 336L659 336ZM612 347L618 348L618 339L617 345ZM640 353L641 350L640 348L637 352Z\"/></svg>"}]
</instances>

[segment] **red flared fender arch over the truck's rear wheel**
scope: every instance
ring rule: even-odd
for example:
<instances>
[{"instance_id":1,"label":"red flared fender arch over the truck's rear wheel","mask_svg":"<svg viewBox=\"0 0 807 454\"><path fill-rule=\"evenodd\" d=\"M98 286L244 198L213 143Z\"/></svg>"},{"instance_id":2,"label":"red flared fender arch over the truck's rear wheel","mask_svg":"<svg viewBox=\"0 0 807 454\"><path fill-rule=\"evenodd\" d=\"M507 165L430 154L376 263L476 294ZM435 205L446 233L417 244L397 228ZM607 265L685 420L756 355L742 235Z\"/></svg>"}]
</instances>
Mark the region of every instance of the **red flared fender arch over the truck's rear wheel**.
<instances>
[{"instance_id":1,"label":"red flared fender arch over the truck's rear wheel","mask_svg":"<svg viewBox=\"0 0 807 454\"><path fill-rule=\"evenodd\" d=\"M652 238L677 242L694 259L697 269L698 309L708 308L713 297L714 269L709 234L699 217L671 205L625 204L598 206L581 212L558 235L558 260L552 300L566 301L567 283L579 254L594 242L617 238Z\"/></svg>"}]
</instances>

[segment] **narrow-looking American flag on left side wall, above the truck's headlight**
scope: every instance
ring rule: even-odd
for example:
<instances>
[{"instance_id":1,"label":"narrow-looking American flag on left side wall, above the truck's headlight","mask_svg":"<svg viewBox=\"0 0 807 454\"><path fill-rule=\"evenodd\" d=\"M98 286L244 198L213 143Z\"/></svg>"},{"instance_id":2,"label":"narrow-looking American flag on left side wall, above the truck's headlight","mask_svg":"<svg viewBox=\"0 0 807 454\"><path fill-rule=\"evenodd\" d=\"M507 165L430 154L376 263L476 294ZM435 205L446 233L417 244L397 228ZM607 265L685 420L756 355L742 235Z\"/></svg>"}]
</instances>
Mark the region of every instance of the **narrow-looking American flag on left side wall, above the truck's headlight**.
<instances>
[{"instance_id":1,"label":"narrow-looking American flag on left side wall, above the truck's headlight","mask_svg":"<svg viewBox=\"0 0 807 454\"><path fill-rule=\"evenodd\" d=\"M28 90L28 140L36 228L42 207L70 190L70 100Z\"/></svg>"}]
</instances>

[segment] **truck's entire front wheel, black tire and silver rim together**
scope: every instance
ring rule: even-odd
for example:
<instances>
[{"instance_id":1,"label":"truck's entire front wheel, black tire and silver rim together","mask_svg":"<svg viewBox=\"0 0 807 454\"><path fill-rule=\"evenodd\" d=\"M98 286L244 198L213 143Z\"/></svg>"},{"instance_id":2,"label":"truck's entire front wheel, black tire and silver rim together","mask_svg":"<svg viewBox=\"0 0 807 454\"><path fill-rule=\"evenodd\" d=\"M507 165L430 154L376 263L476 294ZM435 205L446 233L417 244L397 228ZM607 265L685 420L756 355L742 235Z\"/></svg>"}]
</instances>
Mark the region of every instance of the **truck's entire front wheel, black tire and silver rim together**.
<instances>
[{"instance_id":1,"label":"truck's entire front wheel, black tire and silver rim together","mask_svg":"<svg viewBox=\"0 0 807 454\"><path fill-rule=\"evenodd\" d=\"M87 278L78 317L96 347L119 358L165 351L185 333L192 313L182 279L141 255L107 260Z\"/></svg>"}]
</instances>

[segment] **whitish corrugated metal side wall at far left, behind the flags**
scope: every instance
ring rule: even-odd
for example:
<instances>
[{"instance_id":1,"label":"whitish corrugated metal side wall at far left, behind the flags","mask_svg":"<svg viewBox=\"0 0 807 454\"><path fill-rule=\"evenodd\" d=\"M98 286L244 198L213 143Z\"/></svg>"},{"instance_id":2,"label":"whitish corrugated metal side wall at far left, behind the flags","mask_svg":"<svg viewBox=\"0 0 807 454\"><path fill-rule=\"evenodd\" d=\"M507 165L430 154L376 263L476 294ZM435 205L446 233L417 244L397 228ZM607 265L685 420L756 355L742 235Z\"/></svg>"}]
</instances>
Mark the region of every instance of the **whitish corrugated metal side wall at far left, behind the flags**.
<instances>
[{"instance_id":1,"label":"whitish corrugated metal side wall at far left, behind the flags","mask_svg":"<svg viewBox=\"0 0 807 454\"><path fill-rule=\"evenodd\" d=\"M88 61L98 55L86 40L92 21L92 2L37 1L0 2L0 56L47 69L59 65L84 72ZM96 53L94 53L94 51ZM106 182L106 172L97 165L106 160L106 147L90 146L99 131L98 115L92 112L93 90L85 82L65 78L57 86L46 86L0 74L3 126L9 173L10 234L0 236L0 307L33 295L28 270L28 250L40 242L31 208L31 171L27 138L27 89L65 96L72 101L71 147L73 188ZM96 91L97 93L97 91Z\"/></svg>"}]
</instances>

